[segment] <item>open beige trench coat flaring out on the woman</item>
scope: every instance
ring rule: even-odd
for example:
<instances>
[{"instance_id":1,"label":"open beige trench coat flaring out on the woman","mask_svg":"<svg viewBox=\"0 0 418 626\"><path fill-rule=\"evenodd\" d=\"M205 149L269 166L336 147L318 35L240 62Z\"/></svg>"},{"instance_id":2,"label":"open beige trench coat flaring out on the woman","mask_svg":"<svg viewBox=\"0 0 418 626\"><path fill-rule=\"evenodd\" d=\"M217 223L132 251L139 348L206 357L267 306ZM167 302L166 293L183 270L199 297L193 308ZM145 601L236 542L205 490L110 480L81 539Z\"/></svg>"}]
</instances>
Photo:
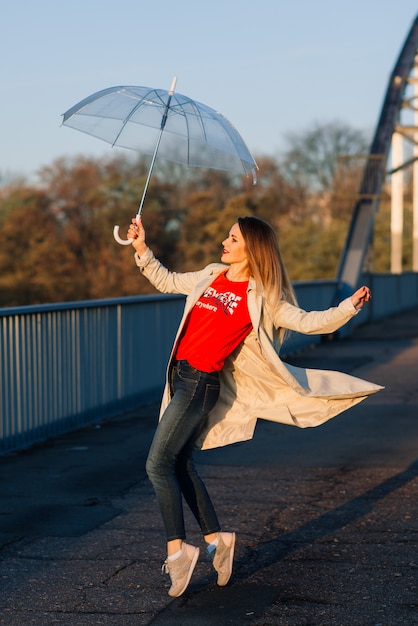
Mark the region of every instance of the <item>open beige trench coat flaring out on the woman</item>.
<instances>
[{"instance_id":1,"label":"open beige trench coat flaring out on the woman","mask_svg":"<svg viewBox=\"0 0 418 626\"><path fill-rule=\"evenodd\" d=\"M197 272L170 272L149 249L141 257L135 254L135 261L159 291L187 296L174 341L176 346L190 310L226 266L214 263ZM357 314L351 298L343 300L337 307L311 312L281 302L269 315L263 296L256 293L253 279L249 281L247 298L253 330L225 362L220 373L219 399L209 415L198 447L216 448L251 439L258 418L300 428L319 426L383 389L341 372L294 367L279 357L278 329L308 335L332 333ZM174 347L167 381L173 354ZM170 401L167 381L160 415Z\"/></svg>"}]
</instances>

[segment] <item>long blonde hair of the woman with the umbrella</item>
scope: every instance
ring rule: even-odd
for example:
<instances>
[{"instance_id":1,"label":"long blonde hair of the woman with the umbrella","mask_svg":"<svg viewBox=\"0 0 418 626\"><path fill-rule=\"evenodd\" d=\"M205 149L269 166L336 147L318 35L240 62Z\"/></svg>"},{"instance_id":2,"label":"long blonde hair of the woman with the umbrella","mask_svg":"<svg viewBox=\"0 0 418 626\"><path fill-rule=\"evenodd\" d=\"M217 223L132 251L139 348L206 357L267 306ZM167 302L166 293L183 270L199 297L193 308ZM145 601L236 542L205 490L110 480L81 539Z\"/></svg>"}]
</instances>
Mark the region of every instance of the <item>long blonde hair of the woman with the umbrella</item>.
<instances>
[{"instance_id":1,"label":"long blonde hair of the woman with the umbrella","mask_svg":"<svg viewBox=\"0 0 418 626\"><path fill-rule=\"evenodd\" d=\"M273 309L280 300L296 305L275 230L264 220L253 216L239 217L238 226L245 241L248 269L257 291L264 292L267 304Z\"/></svg>"}]
</instances>

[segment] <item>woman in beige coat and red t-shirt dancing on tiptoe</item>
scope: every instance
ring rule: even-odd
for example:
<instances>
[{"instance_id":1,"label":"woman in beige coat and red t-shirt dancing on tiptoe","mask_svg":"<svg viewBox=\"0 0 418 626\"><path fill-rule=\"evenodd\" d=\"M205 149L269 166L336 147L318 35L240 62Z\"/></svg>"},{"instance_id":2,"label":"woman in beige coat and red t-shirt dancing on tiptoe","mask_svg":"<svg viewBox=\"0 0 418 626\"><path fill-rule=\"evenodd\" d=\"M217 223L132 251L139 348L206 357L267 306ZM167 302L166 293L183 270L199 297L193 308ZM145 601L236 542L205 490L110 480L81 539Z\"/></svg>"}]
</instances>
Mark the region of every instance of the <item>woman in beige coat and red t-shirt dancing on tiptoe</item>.
<instances>
[{"instance_id":1,"label":"woman in beige coat and red t-shirt dancing on tiptoe","mask_svg":"<svg viewBox=\"0 0 418 626\"><path fill-rule=\"evenodd\" d=\"M169 595L177 597L199 558L199 548L185 542L182 495L220 586L231 577L235 548L235 533L221 531L193 450L250 439L259 417L315 426L381 389L347 374L291 367L278 356L285 330L334 332L371 294L363 286L338 307L298 308L276 234L255 217L238 218L222 242L222 263L197 272L167 270L145 243L141 221L132 220L128 237L144 276L164 293L187 296L146 465L167 534Z\"/></svg>"}]
</instances>

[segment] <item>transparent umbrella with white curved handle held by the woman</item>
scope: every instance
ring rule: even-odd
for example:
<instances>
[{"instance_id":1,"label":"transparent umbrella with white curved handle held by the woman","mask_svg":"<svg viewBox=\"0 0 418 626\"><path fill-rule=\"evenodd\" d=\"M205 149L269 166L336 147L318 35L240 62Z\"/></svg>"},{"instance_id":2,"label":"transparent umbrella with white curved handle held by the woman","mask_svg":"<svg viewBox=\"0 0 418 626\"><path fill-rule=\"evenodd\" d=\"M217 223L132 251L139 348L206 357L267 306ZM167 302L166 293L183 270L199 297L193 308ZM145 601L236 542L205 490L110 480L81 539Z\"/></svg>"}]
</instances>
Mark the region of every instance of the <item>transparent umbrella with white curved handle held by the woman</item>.
<instances>
[{"instance_id":1,"label":"transparent umbrella with white curved handle held by the woman","mask_svg":"<svg viewBox=\"0 0 418 626\"><path fill-rule=\"evenodd\" d=\"M103 139L112 146L152 156L142 193L139 220L155 160L158 157L192 167L248 174L256 182L257 164L241 135L221 113L170 90L109 87L88 96L63 115L63 125ZM131 239L114 237L128 245Z\"/></svg>"}]
</instances>

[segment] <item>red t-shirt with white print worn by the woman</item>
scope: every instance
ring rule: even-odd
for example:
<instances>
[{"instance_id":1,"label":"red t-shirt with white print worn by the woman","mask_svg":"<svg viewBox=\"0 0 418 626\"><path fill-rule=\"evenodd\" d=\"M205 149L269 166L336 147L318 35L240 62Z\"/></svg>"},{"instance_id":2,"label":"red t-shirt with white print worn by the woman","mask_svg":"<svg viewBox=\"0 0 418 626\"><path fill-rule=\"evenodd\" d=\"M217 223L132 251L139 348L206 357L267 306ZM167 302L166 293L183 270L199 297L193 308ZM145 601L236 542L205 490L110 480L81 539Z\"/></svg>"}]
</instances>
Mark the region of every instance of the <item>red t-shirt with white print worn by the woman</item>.
<instances>
[{"instance_id":1,"label":"red t-shirt with white print worn by the woman","mask_svg":"<svg viewBox=\"0 0 418 626\"><path fill-rule=\"evenodd\" d=\"M220 274L191 310L176 359L202 372L217 372L252 328L247 306L248 281Z\"/></svg>"}]
</instances>

